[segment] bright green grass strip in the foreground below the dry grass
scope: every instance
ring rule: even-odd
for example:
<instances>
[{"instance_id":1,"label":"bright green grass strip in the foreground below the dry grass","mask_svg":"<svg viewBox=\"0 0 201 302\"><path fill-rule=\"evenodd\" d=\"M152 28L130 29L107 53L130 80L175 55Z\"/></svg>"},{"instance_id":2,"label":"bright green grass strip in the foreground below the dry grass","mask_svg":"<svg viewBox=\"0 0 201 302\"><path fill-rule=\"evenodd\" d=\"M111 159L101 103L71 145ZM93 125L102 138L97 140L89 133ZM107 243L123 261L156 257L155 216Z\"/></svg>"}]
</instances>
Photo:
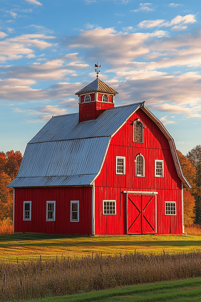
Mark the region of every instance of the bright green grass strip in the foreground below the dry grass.
<instances>
[{"instance_id":1,"label":"bright green grass strip in the foreground below the dry grass","mask_svg":"<svg viewBox=\"0 0 201 302\"><path fill-rule=\"evenodd\" d=\"M20 300L22 301L22 300ZM47 297L27 302L188 302L201 301L201 278L125 286L63 297Z\"/></svg>"}]
</instances>

